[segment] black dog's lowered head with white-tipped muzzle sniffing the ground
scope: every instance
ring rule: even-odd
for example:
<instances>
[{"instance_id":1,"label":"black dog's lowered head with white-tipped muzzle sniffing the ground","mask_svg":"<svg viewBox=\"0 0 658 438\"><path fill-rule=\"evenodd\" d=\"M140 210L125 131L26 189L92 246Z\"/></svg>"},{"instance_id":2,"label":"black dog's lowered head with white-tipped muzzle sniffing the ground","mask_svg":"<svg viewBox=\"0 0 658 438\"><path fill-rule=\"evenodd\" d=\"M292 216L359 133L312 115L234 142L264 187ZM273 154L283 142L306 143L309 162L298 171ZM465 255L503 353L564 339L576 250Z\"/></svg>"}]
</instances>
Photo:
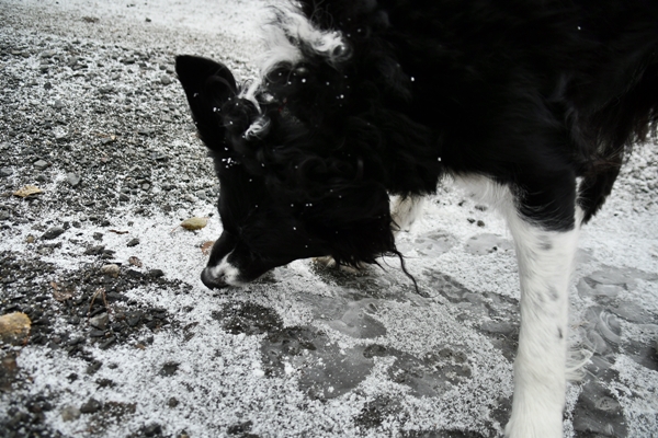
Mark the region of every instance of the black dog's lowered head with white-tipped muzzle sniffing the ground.
<instances>
[{"instance_id":1,"label":"black dog's lowered head with white-tipped muzzle sniffing the ground","mask_svg":"<svg viewBox=\"0 0 658 438\"><path fill-rule=\"evenodd\" d=\"M427 141L424 131L386 107L404 103L408 78L373 78L367 59L353 62L356 45L343 33L320 31L300 13L277 20L262 76L247 87L220 64L177 58L219 177L224 231L202 274L211 288L297 258L355 265L397 254L388 192L435 184L418 184L431 180L431 159L409 159L413 151L399 147ZM387 80L397 91L377 83Z\"/></svg>"}]
</instances>

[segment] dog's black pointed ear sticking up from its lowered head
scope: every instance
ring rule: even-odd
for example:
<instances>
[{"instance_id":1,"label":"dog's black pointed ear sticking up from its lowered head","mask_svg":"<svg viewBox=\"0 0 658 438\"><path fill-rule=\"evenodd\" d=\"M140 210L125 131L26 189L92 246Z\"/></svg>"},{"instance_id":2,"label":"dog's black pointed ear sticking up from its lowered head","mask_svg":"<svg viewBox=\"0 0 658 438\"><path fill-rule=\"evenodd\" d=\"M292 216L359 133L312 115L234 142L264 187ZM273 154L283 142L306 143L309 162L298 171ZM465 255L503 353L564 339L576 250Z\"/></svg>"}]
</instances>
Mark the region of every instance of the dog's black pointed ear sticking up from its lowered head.
<instances>
[{"instance_id":1,"label":"dog's black pointed ear sticking up from its lowered head","mask_svg":"<svg viewBox=\"0 0 658 438\"><path fill-rule=\"evenodd\" d=\"M175 58L175 72L188 96L201 139L208 148L218 150L226 134L220 110L237 92L232 73L212 59L188 55Z\"/></svg>"}]
</instances>

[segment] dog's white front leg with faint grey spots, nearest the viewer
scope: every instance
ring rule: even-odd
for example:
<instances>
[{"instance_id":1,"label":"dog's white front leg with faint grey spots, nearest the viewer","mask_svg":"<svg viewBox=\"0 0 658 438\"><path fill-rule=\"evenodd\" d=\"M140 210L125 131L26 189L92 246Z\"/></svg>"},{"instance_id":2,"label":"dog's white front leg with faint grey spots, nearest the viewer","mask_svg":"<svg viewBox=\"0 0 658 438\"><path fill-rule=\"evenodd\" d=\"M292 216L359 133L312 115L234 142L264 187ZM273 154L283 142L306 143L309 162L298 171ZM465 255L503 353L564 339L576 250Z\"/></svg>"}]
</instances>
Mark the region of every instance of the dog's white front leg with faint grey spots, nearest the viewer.
<instances>
[{"instance_id":1,"label":"dog's white front leg with faint grey spots, nearest the viewer","mask_svg":"<svg viewBox=\"0 0 658 438\"><path fill-rule=\"evenodd\" d=\"M578 226L570 231L545 231L518 215L510 216L521 280L521 330L506 436L561 438L568 290Z\"/></svg>"}]
</instances>

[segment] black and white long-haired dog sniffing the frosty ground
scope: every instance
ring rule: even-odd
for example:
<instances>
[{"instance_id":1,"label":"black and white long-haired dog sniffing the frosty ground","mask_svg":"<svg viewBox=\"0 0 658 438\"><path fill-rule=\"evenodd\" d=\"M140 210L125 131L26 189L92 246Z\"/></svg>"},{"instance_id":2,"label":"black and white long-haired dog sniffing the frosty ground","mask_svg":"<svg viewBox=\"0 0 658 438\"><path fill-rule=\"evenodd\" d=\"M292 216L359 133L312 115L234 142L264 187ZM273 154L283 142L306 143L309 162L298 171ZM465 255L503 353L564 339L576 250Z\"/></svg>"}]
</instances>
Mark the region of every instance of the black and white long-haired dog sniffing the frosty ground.
<instances>
[{"instance_id":1,"label":"black and white long-haired dog sniffing the frosty ground","mask_svg":"<svg viewBox=\"0 0 658 438\"><path fill-rule=\"evenodd\" d=\"M508 437L561 437L578 230L658 119L656 0L300 0L274 10L258 80L177 71L224 223L203 283L297 258L400 256L446 177L515 241L521 332ZM389 206L389 196L398 201Z\"/></svg>"}]
</instances>

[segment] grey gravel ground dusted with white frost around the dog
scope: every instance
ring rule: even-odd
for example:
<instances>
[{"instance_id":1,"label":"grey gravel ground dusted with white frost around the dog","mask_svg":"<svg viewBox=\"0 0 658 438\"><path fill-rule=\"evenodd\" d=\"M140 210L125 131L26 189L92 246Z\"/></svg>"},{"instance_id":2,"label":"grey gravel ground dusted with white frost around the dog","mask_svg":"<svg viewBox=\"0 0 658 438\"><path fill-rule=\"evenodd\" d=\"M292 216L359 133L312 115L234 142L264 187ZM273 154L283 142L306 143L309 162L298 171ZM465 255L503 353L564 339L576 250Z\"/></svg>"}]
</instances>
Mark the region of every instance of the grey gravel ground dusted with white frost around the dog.
<instances>
[{"instance_id":1,"label":"grey gravel ground dusted with white frost around the dog","mask_svg":"<svg viewBox=\"0 0 658 438\"><path fill-rule=\"evenodd\" d=\"M222 293L198 279L217 182L172 62L254 73L258 0L0 3L0 349L8 437L497 437L518 336L500 218L442 188L396 260L297 261ZM566 436L658 430L656 146L582 234ZM26 185L42 194L13 193ZM197 231L178 227L208 218Z\"/></svg>"}]
</instances>

